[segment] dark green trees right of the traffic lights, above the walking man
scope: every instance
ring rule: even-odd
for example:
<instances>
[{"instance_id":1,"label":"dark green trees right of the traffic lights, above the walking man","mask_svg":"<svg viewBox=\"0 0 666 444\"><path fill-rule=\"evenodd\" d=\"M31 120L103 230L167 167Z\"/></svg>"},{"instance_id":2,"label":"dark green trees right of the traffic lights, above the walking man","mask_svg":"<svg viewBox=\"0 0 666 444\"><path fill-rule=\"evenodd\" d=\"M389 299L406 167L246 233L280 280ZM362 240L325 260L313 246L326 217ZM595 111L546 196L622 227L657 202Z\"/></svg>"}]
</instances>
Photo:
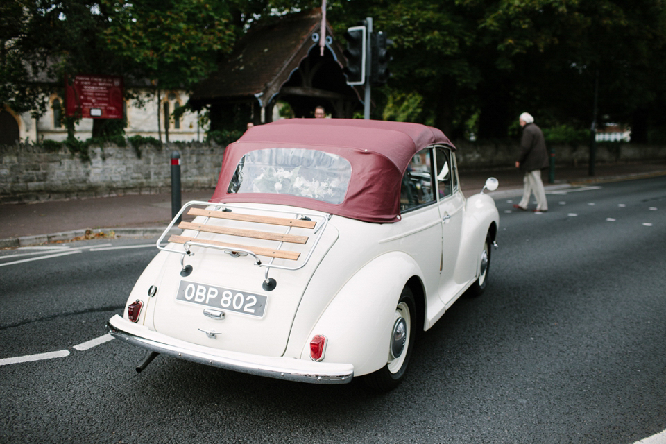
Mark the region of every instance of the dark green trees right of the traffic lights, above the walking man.
<instances>
[{"instance_id":1,"label":"dark green trees right of the traffic lights, above the walking man","mask_svg":"<svg viewBox=\"0 0 666 444\"><path fill-rule=\"evenodd\" d=\"M589 128L597 72L600 114L634 125L641 112L663 114L654 112L666 84L660 0L370 0L330 10L338 35L366 16L395 42L386 104L416 92L418 119L454 138L476 115L479 137L506 137L525 110Z\"/></svg>"}]
</instances>

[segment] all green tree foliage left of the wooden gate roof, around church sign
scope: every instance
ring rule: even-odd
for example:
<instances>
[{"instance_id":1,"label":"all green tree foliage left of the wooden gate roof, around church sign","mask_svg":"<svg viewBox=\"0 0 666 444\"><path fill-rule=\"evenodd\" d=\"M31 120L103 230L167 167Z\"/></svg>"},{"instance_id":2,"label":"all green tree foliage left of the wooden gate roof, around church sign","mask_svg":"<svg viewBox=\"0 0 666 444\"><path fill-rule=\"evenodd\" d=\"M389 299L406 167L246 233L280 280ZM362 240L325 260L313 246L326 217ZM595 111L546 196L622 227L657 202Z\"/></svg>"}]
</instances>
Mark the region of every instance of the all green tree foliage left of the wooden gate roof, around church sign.
<instances>
[{"instance_id":1,"label":"all green tree foliage left of the wooden gate roof, around church sign","mask_svg":"<svg viewBox=\"0 0 666 444\"><path fill-rule=\"evenodd\" d=\"M43 112L44 93L62 90L65 74L187 89L235 38L224 2L8 0L0 8L0 103L18 112ZM117 121L94 120L94 135L118 132Z\"/></svg>"}]
</instances>

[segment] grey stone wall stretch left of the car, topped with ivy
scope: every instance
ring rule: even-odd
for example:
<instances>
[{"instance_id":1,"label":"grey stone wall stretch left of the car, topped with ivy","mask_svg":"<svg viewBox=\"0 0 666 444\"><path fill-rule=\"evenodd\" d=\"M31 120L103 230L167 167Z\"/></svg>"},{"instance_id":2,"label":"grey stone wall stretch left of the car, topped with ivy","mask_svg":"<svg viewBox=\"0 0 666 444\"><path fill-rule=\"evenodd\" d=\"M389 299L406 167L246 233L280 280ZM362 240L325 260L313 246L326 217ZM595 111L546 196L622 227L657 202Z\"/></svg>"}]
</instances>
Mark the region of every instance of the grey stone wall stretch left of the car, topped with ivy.
<instances>
[{"instance_id":1,"label":"grey stone wall stretch left of the car, topped with ivy","mask_svg":"<svg viewBox=\"0 0 666 444\"><path fill-rule=\"evenodd\" d=\"M0 203L65 198L155 194L171 191L171 153L181 157L184 191L213 188L224 148L187 145L133 148L91 146L89 162L68 148L49 152L42 146L0 147Z\"/></svg>"}]
</instances>

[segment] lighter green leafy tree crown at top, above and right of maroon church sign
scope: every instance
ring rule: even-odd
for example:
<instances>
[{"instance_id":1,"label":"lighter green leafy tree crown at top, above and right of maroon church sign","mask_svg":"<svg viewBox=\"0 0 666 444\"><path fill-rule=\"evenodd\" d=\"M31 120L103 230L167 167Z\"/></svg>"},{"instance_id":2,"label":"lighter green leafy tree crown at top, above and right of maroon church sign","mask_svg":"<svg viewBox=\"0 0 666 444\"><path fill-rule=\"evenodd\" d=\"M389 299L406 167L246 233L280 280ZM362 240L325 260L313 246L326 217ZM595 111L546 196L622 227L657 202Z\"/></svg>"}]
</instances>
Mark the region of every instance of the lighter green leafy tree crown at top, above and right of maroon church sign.
<instances>
[{"instance_id":1,"label":"lighter green leafy tree crown at top, above and right of maroon church sign","mask_svg":"<svg viewBox=\"0 0 666 444\"><path fill-rule=\"evenodd\" d=\"M110 51L162 89L197 83L235 40L224 2L102 0L102 5Z\"/></svg>"}]
</instances>

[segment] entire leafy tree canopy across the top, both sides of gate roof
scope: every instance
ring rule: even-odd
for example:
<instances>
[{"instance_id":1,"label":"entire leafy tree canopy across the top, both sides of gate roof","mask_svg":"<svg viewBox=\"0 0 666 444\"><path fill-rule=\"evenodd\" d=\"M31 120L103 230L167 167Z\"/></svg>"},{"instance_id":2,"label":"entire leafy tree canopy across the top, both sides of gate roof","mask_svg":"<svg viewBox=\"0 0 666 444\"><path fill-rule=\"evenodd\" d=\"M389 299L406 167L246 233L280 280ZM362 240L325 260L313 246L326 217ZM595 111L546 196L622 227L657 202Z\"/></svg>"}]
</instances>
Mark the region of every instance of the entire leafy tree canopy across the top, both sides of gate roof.
<instances>
[{"instance_id":1,"label":"entire leafy tree canopy across the top, both sides of gate roof","mask_svg":"<svg viewBox=\"0 0 666 444\"><path fill-rule=\"evenodd\" d=\"M40 108L35 78L117 74L191 87L262 17L318 0L5 0L0 103ZM432 123L452 138L506 137L518 114L543 126L666 128L662 0L330 0L339 40L373 17L393 40L391 78L373 117ZM343 43L341 41L341 43ZM376 94L375 94L376 93Z\"/></svg>"}]
</instances>

